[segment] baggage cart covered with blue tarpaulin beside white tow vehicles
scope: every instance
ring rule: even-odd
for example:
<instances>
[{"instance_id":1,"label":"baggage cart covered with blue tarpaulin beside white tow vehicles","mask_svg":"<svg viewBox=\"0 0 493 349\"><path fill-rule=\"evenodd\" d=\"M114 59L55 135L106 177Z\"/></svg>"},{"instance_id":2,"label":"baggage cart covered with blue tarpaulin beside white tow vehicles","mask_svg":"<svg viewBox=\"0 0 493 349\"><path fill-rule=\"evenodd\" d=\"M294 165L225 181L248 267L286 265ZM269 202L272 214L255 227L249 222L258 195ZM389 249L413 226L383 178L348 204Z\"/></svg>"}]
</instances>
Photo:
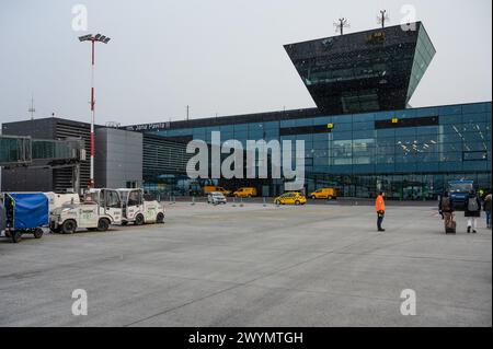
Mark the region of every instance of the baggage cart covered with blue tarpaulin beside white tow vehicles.
<instances>
[{"instance_id":1,"label":"baggage cart covered with blue tarpaulin beside white tow vehicles","mask_svg":"<svg viewBox=\"0 0 493 349\"><path fill-rule=\"evenodd\" d=\"M48 198L43 193L4 193L2 203L5 217L5 235L14 243L22 234L43 236L42 226L48 225Z\"/></svg>"}]
</instances>

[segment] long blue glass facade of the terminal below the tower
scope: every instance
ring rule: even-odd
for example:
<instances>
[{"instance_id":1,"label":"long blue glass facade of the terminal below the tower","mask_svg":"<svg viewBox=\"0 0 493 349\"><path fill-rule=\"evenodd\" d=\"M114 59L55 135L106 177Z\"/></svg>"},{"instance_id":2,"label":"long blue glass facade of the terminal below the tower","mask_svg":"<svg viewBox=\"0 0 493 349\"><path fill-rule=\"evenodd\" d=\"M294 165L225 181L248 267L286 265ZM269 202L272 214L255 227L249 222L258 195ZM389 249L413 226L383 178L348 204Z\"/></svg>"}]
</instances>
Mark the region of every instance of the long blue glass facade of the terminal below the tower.
<instances>
[{"instance_id":1,"label":"long blue glass facade of the terminal below the tower","mask_svg":"<svg viewBox=\"0 0 493 349\"><path fill-rule=\"evenodd\" d=\"M307 191L334 186L348 197L372 197L383 189L394 199L432 199L450 179L468 178L477 187L491 187L491 102L312 117L300 110L300 117L283 116L253 115L251 123L239 124L203 119L199 127L192 127L198 120L180 128L171 123L147 132L210 142L211 131L220 131L221 141L237 139L243 147L246 140L303 140ZM151 154L145 151L144 156ZM184 174L163 173L161 178L168 178L168 188L180 187L186 182ZM146 168L144 176L146 181ZM156 173L147 176L147 185L159 184L152 178ZM283 191L282 179L215 182L230 189L255 186L270 196Z\"/></svg>"}]
</instances>

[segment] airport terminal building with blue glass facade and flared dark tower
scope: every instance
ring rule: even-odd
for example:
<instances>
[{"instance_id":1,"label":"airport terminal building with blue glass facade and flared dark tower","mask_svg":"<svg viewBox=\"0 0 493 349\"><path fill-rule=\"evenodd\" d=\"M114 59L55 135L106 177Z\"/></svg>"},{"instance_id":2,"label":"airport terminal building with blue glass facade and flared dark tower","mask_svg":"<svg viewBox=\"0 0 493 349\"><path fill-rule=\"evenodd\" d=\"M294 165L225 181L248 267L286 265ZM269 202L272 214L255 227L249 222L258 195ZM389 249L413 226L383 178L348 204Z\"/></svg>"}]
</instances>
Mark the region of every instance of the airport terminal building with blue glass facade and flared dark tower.
<instances>
[{"instance_id":1,"label":"airport terminal building with blue glass facade and flared dark tower","mask_svg":"<svg viewBox=\"0 0 493 349\"><path fill-rule=\"evenodd\" d=\"M220 131L222 141L236 139L243 147L246 140L303 140L306 193L336 187L345 197L374 197L385 190L390 198L424 200L460 178L491 188L491 101L409 105L435 55L421 22L289 44L285 49L317 108L123 127L122 132L141 133L131 141L139 148L134 158L142 159L131 160L141 172L134 168L135 178L122 176L122 183L172 195L194 194L204 184L253 186L262 196L284 191L283 178L188 178L192 154L185 153L186 143L210 143L211 132ZM121 133L118 139L128 137ZM107 149L122 153L118 147ZM113 158L96 151L96 164L106 161L98 156ZM104 168L116 171L107 163ZM108 178L104 168L95 171Z\"/></svg>"}]
</instances>

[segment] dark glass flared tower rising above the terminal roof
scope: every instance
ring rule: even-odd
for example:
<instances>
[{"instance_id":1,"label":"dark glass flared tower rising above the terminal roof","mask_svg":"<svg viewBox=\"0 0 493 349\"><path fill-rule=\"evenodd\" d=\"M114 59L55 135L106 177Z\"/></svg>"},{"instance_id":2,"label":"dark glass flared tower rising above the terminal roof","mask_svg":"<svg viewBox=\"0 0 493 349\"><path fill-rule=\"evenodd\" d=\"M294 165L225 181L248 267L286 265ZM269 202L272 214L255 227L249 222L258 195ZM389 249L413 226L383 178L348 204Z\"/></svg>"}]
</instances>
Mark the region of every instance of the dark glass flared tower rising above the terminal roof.
<instances>
[{"instance_id":1,"label":"dark glass flared tower rising above the terminal roof","mask_svg":"<svg viewBox=\"0 0 493 349\"><path fill-rule=\"evenodd\" d=\"M405 108L435 48L421 22L285 45L320 110Z\"/></svg>"}]
</instances>

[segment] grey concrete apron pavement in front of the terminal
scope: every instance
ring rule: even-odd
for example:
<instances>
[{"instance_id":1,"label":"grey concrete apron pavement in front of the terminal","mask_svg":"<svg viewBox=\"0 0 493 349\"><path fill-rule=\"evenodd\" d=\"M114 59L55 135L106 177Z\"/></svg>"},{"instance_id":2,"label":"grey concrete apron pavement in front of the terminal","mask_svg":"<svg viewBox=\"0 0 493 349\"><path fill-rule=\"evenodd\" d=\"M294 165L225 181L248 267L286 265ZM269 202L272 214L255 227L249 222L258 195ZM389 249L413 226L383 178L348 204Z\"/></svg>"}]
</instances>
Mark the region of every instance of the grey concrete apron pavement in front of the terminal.
<instances>
[{"instance_id":1,"label":"grey concrete apron pavement in front of the terminal","mask_svg":"<svg viewBox=\"0 0 493 349\"><path fill-rule=\"evenodd\" d=\"M0 239L0 326L492 326L483 218L445 235L426 206L389 207L383 233L368 206L167 210L162 225Z\"/></svg>"}]
</instances>

